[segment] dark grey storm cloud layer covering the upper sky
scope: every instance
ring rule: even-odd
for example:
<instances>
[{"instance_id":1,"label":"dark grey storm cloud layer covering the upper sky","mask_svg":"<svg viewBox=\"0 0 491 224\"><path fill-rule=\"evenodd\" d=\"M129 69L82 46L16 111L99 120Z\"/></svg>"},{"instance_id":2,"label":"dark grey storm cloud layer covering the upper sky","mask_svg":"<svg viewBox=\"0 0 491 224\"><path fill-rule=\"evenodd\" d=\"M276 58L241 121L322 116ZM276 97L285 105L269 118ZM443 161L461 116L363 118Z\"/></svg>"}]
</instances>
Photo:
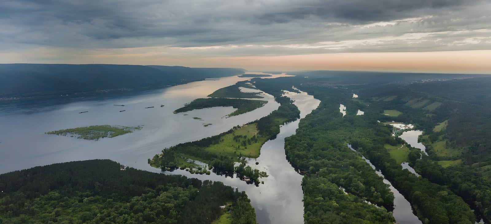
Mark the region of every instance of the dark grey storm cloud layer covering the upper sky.
<instances>
[{"instance_id":1,"label":"dark grey storm cloud layer covering the upper sky","mask_svg":"<svg viewBox=\"0 0 491 224\"><path fill-rule=\"evenodd\" d=\"M408 30L490 28L490 5L484 0L3 0L0 48L22 44L87 49L268 45L247 52L277 49L284 54L299 48L297 52L322 52L320 42L369 40L345 47L345 51L356 51L371 49L366 43L374 38L404 37ZM408 18L419 19L391 22ZM370 25L377 22L390 23ZM376 42L372 50L431 48L437 40L437 47L452 43L462 47L469 41L466 37L473 37L454 35L455 40L441 41L442 36L426 35L424 41L413 38L410 45L396 38ZM325 48L344 49L331 45Z\"/></svg>"}]
</instances>

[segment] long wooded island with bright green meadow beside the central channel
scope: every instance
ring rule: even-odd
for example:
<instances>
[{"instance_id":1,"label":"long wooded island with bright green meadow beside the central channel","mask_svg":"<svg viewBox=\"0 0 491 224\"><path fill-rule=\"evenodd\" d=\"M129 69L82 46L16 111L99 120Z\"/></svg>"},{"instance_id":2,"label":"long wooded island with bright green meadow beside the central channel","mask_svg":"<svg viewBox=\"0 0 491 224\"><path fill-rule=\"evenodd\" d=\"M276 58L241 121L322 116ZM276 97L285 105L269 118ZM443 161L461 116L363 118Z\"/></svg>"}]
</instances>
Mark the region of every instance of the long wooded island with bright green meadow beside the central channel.
<instances>
[{"instance_id":1,"label":"long wooded island with bright green meadow beside the central channel","mask_svg":"<svg viewBox=\"0 0 491 224\"><path fill-rule=\"evenodd\" d=\"M278 94L275 100L280 106L266 117L243 126L237 125L215 136L166 148L161 154L148 159L148 163L162 170L179 168L198 174L205 174L206 168L215 172L236 172L259 182L260 177L267 176L266 172L246 166L245 157L259 157L261 146L279 133L279 126L300 116L300 111L288 97ZM199 166L190 159L208 165ZM241 164L234 167L234 162Z\"/></svg>"}]
</instances>

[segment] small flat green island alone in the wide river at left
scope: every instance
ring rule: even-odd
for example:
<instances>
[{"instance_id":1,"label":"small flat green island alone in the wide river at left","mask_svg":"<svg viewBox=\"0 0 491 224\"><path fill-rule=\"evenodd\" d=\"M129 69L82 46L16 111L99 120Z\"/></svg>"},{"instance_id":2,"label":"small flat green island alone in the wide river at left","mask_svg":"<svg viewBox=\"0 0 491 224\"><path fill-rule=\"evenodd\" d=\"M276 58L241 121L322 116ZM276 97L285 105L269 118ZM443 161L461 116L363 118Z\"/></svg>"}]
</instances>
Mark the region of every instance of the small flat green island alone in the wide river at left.
<instances>
[{"instance_id":1,"label":"small flat green island alone in the wide river at left","mask_svg":"<svg viewBox=\"0 0 491 224\"><path fill-rule=\"evenodd\" d=\"M115 137L122 134L132 133L134 130L140 130L141 126L125 127L125 126L110 126L110 125L92 125L81 128L63 129L45 134L56 134L70 137L77 137L86 140L99 140L99 138Z\"/></svg>"}]
</instances>

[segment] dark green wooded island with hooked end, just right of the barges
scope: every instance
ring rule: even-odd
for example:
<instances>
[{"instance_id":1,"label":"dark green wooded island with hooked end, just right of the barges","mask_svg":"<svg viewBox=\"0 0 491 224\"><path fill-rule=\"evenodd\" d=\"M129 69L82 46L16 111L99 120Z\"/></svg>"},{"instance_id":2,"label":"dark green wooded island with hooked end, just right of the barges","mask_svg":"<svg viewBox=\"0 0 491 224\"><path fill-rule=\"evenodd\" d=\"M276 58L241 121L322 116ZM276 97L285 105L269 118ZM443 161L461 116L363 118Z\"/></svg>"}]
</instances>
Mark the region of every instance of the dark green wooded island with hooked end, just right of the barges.
<instances>
[{"instance_id":1,"label":"dark green wooded island with hooked end, just right of the barges","mask_svg":"<svg viewBox=\"0 0 491 224\"><path fill-rule=\"evenodd\" d=\"M268 101L264 100L246 100L246 99L228 99L228 98L199 98L186 104L184 107L174 111L174 113L187 112L195 109L212 108L212 107L233 107L237 110L227 116L235 116L242 113L250 112L264 106ZM199 117L193 119L201 120Z\"/></svg>"}]
</instances>

